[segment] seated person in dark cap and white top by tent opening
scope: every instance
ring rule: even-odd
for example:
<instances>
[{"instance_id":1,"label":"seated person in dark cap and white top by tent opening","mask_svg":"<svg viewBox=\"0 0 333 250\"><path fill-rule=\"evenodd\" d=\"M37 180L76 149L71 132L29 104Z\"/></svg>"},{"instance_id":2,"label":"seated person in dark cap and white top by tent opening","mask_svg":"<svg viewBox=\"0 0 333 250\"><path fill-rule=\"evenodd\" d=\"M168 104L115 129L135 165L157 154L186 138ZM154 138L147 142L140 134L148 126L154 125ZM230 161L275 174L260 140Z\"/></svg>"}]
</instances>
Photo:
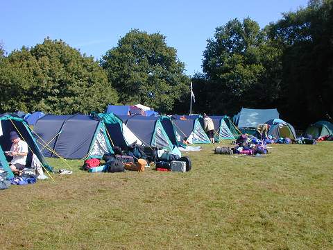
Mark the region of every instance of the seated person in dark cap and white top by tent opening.
<instances>
[{"instance_id":1,"label":"seated person in dark cap and white top by tent opening","mask_svg":"<svg viewBox=\"0 0 333 250\"><path fill-rule=\"evenodd\" d=\"M22 170L26 167L26 156L28 156L28 144L19 138L15 131L9 134L9 140L12 141L12 147L6 154L12 156L9 163L10 169L13 173L22 174Z\"/></svg>"}]
</instances>

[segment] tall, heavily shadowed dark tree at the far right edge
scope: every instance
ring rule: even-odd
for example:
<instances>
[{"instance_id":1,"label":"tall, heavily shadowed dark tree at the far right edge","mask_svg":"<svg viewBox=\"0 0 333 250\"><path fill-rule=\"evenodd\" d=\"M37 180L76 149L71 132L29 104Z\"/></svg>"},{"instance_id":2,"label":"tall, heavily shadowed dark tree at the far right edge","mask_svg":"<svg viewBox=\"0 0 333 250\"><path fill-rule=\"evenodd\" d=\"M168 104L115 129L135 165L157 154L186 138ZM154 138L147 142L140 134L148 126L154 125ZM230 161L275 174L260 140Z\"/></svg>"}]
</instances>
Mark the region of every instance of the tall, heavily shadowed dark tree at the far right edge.
<instances>
[{"instance_id":1,"label":"tall, heavily shadowed dark tree at the far right edge","mask_svg":"<svg viewBox=\"0 0 333 250\"><path fill-rule=\"evenodd\" d=\"M333 1L318 0L268 27L284 51L281 109L299 126L333 115L332 27Z\"/></svg>"}]
</instances>

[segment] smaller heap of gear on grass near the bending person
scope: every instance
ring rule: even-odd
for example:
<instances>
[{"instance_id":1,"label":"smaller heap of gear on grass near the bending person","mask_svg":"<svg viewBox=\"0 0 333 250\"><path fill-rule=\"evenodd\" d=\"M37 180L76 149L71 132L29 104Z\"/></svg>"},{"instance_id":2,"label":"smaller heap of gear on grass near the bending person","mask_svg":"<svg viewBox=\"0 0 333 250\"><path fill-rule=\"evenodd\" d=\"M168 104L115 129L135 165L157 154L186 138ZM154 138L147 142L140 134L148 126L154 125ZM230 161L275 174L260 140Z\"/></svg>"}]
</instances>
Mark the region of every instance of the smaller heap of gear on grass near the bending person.
<instances>
[{"instance_id":1,"label":"smaller heap of gear on grass near the bending person","mask_svg":"<svg viewBox=\"0 0 333 250\"><path fill-rule=\"evenodd\" d=\"M246 156L261 156L268 153L265 140L259 140L253 135L239 135L232 147L216 147L215 154L241 154Z\"/></svg>"}]
</instances>

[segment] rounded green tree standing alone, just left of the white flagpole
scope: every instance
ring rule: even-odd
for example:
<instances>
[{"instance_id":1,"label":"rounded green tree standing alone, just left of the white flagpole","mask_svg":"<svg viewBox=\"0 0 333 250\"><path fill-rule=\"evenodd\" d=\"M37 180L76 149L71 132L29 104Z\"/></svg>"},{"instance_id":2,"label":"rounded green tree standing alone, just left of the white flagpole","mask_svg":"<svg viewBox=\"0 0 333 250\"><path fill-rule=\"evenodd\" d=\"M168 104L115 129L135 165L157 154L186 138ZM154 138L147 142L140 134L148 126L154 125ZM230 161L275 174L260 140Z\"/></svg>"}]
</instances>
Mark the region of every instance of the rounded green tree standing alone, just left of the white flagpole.
<instances>
[{"instance_id":1,"label":"rounded green tree standing alone, just left of the white flagpole","mask_svg":"<svg viewBox=\"0 0 333 250\"><path fill-rule=\"evenodd\" d=\"M161 112L189 93L185 65L164 35L131 30L101 60L123 104L142 103Z\"/></svg>"}]
</instances>

